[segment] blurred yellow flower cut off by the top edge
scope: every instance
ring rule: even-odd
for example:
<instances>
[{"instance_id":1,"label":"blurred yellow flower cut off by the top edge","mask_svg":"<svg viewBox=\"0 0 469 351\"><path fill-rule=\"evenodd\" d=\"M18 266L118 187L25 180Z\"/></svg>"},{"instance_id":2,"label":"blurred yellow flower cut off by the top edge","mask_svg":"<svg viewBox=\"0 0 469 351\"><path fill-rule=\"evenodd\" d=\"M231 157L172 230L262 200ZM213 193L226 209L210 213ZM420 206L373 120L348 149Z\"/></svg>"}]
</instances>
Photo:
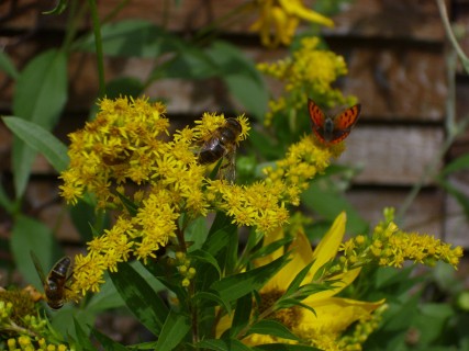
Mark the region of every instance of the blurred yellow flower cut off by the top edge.
<instances>
[{"instance_id":1,"label":"blurred yellow flower cut off by the top edge","mask_svg":"<svg viewBox=\"0 0 469 351\"><path fill-rule=\"evenodd\" d=\"M263 45L269 47L289 45L301 20L334 25L331 19L305 8L301 0L257 0L253 7L259 11L259 18L250 30L259 32Z\"/></svg>"}]
</instances>

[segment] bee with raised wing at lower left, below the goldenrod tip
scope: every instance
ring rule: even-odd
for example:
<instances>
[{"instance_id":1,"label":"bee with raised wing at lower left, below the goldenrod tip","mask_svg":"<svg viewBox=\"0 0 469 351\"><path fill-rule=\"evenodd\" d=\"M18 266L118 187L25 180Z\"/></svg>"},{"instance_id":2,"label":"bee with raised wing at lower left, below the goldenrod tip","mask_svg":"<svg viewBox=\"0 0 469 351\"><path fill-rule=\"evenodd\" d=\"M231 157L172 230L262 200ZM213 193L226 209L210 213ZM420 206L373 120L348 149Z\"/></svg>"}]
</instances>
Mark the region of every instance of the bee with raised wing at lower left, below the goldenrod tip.
<instances>
[{"instance_id":1,"label":"bee with raised wing at lower left, below the goldenrod tip","mask_svg":"<svg viewBox=\"0 0 469 351\"><path fill-rule=\"evenodd\" d=\"M47 305L53 309L62 308L66 301L66 283L72 276L72 272L70 270L71 259L68 256L63 257L54 264L47 276L45 276L41 263L34 252L31 252L31 258L33 259L41 282L44 285L44 294Z\"/></svg>"}]
</instances>

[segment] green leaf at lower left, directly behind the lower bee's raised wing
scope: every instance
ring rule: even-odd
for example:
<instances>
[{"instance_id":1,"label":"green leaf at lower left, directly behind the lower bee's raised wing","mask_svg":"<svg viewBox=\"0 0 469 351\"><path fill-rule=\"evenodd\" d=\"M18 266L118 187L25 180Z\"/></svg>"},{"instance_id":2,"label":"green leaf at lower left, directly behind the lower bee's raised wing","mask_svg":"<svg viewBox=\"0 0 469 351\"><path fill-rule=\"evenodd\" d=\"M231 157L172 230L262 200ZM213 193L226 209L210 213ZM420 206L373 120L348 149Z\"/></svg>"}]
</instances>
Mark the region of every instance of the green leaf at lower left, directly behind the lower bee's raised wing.
<instances>
[{"instance_id":1,"label":"green leaf at lower left, directly behind the lower bee's raised wing","mask_svg":"<svg viewBox=\"0 0 469 351\"><path fill-rule=\"evenodd\" d=\"M43 284L30 252L33 251L38 258L45 274L59 258L64 257L51 229L41 222L23 215L18 216L13 225L10 246L18 270L26 282L36 287Z\"/></svg>"}]
</instances>

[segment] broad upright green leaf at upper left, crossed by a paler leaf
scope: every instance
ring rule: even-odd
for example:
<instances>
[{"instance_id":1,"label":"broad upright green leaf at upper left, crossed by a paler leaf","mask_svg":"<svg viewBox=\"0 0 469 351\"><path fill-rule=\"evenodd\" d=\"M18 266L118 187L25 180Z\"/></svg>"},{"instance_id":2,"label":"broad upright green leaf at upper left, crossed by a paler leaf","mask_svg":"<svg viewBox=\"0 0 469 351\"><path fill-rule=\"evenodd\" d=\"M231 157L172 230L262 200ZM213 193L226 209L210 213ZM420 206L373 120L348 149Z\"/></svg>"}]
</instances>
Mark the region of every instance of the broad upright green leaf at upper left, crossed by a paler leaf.
<instances>
[{"instance_id":1,"label":"broad upright green leaf at upper left, crossed by a paler leaf","mask_svg":"<svg viewBox=\"0 0 469 351\"><path fill-rule=\"evenodd\" d=\"M67 56L48 50L32 59L18 78L13 115L51 131L67 101ZM31 172L35 151L24 141L13 140L13 171L16 197L21 197Z\"/></svg>"}]
</instances>

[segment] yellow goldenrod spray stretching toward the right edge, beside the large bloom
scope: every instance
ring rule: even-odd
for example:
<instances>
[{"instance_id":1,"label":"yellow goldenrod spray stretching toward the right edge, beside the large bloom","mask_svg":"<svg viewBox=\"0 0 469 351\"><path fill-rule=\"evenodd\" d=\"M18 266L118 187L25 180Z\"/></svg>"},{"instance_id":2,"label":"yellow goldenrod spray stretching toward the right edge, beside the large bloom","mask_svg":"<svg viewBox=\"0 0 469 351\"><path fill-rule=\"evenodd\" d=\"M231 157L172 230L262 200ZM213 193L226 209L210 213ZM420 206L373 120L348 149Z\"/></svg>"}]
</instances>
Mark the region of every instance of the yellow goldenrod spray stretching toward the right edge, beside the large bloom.
<instances>
[{"instance_id":1,"label":"yellow goldenrod spray stretching toward the right edge, beside the large bloom","mask_svg":"<svg viewBox=\"0 0 469 351\"><path fill-rule=\"evenodd\" d=\"M405 233L393 222L393 211L384 211L386 220L380 223L370 237L357 236L344 242L342 263L355 268L376 263L383 267L402 268L405 261L434 265L437 261L451 264L455 269L462 257L462 248L451 248L433 236Z\"/></svg>"}]
</instances>

